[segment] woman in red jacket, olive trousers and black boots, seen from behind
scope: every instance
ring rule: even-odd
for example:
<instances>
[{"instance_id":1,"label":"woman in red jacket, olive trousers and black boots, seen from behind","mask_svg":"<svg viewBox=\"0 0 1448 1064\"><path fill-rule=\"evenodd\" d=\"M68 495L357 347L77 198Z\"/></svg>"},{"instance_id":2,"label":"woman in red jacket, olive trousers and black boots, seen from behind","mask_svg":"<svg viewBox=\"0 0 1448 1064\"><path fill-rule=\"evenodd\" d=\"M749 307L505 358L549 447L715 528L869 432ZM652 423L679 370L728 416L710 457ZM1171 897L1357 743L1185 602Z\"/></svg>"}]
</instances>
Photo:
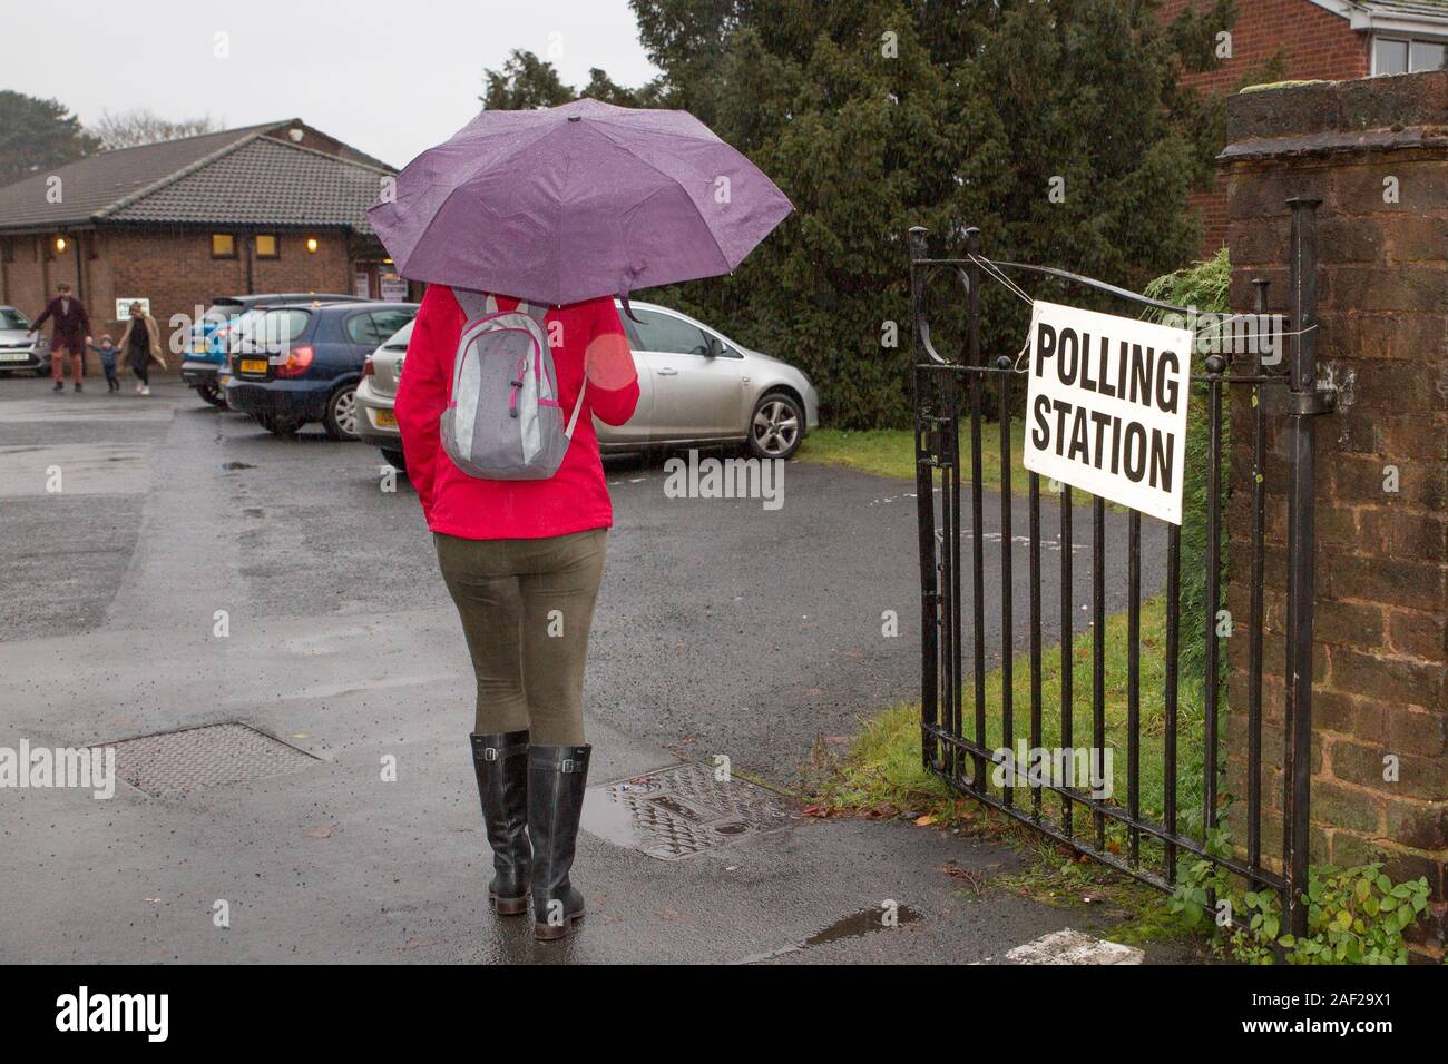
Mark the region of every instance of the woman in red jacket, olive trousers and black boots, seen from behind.
<instances>
[{"instance_id":1,"label":"woman in red jacket, olive trousers and black boots, seen from behind","mask_svg":"<svg viewBox=\"0 0 1448 1064\"><path fill-rule=\"evenodd\" d=\"M565 938L588 757L584 667L613 505L594 415L623 424L639 379L611 298L547 308L429 287L397 423L478 680L472 763L488 899ZM462 466L462 468L460 468Z\"/></svg>"}]
</instances>

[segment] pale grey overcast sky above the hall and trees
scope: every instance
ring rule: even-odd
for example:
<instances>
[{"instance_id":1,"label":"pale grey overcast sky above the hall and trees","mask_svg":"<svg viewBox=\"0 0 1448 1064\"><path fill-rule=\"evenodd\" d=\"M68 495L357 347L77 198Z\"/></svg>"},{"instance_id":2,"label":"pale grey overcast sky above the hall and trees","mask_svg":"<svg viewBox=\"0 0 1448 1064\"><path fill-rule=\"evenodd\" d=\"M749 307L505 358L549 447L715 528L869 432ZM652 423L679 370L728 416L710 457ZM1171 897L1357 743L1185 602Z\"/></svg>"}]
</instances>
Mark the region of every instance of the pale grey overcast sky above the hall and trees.
<instances>
[{"instance_id":1,"label":"pale grey overcast sky above the hall and trees","mask_svg":"<svg viewBox=\"0 0 1448 1064\"><path fill-rule=\"evenodd\" d=\"M526 48L566 84L657 71L626 0L67 0L6 3L0 88L93 122L145 107L224 127L300 117L403 166L473 114L482 71ZM217 55L217 35L229 55Z\"/></svg>"}]
</instances>

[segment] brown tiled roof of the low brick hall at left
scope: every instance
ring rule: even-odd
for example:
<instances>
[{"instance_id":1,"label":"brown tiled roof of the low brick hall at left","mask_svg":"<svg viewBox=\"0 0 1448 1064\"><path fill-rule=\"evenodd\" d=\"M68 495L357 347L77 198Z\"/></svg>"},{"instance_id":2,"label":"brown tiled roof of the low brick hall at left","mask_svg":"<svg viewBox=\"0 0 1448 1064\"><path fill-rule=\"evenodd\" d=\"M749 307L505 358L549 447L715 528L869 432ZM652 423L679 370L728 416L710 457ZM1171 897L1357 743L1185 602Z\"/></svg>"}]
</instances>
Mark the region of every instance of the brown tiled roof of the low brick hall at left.
<instances>
[{"instance_id":1,"label":"brown tiled roof of the low brick hall at left","mask_svg":"<svg viewBox=\"0 0 1448 1064\"><path fill-rule=\"evenodd\" d=\"M284 126L123 148L36 174L0 188L0 230L116 220L337 224L371 233L366 208L392 171L266 136ZM52 177L59 203L48 197Z\"/></svg>"}]
</instances>

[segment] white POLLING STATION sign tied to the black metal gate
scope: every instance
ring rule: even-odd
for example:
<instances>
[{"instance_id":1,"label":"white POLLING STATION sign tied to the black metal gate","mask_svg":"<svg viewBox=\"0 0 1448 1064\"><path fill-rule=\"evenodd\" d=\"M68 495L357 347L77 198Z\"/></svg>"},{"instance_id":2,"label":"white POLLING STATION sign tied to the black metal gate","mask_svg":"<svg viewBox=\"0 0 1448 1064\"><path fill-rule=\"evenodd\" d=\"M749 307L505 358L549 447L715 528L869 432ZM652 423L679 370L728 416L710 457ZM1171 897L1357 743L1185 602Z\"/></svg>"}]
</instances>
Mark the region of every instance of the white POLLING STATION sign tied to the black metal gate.
<instances>
[{"instance_id":1,"label":"white POLLING STATION sign tied to the black metal gate","mask_svg":"<svg viewBox=\"0 0 1448 1064\"><path fill-rule=\"evenodd\" d=\"M1025 468L1182 524L1192 333L1037 301Z\"/></svg>"}]
</instances>

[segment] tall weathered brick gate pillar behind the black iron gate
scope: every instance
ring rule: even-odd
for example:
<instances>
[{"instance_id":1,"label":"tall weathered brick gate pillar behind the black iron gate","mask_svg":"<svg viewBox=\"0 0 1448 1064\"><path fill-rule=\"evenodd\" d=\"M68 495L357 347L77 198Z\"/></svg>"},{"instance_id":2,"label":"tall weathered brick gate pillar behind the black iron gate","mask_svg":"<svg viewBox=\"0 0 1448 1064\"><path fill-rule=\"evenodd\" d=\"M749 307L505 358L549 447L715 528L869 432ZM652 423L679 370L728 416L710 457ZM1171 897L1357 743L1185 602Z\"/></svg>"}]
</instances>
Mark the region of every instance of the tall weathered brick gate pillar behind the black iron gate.
<instances>
[{"instance_id":1,"label":"tall weathered brick gate pillar behind the black iron gate","mask_svg":"<svg viewBox=\"0 0 1448 1064\"><path fill-rule=\"evenodd\" d=\"M1312 861L1381 857L1394 879L1426 876L1435 903L1410 941L1442 957L1448 71L1242 93L1228 140L1232 310L1253 310L1251 281L1268 278L1270 308L1286 311L1283 201L1321 198L1319 379L1352 379L1351 405L1318 420ZM1284 389L1266 391L1263 838L1280 867L1286 418ZM1245 618L1254 411L1247 389L1232 392L1228 605ZM1228 644L1228 779L1241 798L1248 647L1245 636ZM1234 835L1245 838L1241 822Z\"/></svg>"}]
</instances>

